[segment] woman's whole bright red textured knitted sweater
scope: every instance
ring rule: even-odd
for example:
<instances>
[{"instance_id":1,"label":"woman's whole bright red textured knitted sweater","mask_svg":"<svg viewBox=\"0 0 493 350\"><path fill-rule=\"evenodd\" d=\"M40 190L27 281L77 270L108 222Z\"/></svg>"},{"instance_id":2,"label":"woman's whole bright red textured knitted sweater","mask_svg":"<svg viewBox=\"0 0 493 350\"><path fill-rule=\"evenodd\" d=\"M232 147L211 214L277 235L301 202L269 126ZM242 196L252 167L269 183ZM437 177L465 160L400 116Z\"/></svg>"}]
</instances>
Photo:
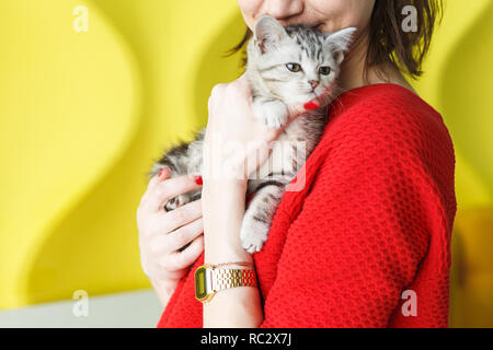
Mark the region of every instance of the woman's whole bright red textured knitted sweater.
<instances>
[{"instance_id":1,"label":"woman's whole bright red textured knitted sweater","mask_svg":"<svg viewBox=\"0 0 493 350\"><path fill-rule=\"evenodd\" d=\"M330 107L305 188L285 192L254 254L261 327L447 327L457 207L440 115L394 84L351 90ZM158 327L203 327L202 264L204 254Z\"/></svg>"}]
</instances>

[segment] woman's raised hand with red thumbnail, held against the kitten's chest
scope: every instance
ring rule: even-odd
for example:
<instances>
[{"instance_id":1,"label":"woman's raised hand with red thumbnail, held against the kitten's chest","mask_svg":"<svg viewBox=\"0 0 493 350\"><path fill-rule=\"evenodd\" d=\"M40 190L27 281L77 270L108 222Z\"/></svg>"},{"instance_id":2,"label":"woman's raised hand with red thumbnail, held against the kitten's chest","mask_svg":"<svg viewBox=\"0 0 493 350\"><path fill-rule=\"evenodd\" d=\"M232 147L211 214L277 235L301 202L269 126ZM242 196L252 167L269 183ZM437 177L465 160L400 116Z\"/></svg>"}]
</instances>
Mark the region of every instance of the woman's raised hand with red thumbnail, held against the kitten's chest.
<instances>
[{"instance_id":1,"label":"woman's raised hand with red thumbnail, held against the kitten's chest","mask_svg":"<svg viewBox=\"0 0 493 350\"><path fill-rule=\"evenodd\" d=\"M214 86L208 102L208 122L205 135L204 177L213 179L243 179L268 156L270 147L284 128L297 116L320 103L288 107L288 122L280 129L267 128L255 118L252 92L246 75Z\"/></svg>"}]
</instances>

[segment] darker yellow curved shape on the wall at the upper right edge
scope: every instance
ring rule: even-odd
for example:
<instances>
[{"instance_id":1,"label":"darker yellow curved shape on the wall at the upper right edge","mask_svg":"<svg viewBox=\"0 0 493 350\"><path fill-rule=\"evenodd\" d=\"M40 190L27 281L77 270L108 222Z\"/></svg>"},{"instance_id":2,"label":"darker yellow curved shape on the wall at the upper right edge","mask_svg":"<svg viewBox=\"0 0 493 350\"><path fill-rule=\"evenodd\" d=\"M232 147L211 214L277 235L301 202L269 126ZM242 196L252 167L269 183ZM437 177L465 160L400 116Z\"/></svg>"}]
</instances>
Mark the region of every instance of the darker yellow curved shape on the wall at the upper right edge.
<instances>
[{"instance_id":1,"label":"darker yellow curved shape on the wall at the upper right edge","mask_svg":"<svg viewBox=\"0 0 493 350\"><path fill-rule=\"evenodd\" d=\"M489 2L450 52L440 84L454 142L481 179L489 198L493 198L493 162L485 161L493 160L493 39L489 37L493 33L492 16L493 2Z\"/></svg>"}]
</instances>

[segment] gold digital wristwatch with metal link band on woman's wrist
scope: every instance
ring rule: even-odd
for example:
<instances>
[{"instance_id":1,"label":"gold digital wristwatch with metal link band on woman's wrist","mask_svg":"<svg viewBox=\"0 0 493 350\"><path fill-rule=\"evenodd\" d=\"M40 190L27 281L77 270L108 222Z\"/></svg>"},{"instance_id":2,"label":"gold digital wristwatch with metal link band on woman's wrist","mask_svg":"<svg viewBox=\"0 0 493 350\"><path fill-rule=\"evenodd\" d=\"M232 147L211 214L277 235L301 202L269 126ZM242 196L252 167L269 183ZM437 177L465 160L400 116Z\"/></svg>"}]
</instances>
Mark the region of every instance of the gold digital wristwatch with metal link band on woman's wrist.
<instances>
[{"instance_id":1,"label":"gold digital wristwatch with metal link band on woman's wrist","mask_svg":"<svg viewBox=\"0 0 493 350\"><path fill-rule=\"evenodd\" d=\"M251 269L225 268L223 266L249 266ZM209 302L218 291L234 287L256 287L256 273L249 262L203 265L195 270L195 299Z\"/></svg>"}]
</instances>

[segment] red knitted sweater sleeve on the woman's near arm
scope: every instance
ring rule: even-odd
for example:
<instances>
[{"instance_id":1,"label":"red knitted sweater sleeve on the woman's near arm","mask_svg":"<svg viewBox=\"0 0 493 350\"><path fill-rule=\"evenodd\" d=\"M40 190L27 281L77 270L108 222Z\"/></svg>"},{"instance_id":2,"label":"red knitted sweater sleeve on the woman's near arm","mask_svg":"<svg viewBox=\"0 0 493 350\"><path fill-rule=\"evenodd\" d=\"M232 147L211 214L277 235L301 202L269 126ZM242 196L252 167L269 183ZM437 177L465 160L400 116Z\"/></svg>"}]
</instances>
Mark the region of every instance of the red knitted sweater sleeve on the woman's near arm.
<instances>
[{"instance_id":1,"label":"red knitted sweater sleeve on the woman's near arm","mask_svg":"<svg viewBox=\"0 0 493 350\"><path fill-rule=\"evenodd\" d=\"M332 137L288 230L261 327L386 327L400 312L434 214L426 140L409 120L366 114Z\"/></svg>"}]
</instances>

